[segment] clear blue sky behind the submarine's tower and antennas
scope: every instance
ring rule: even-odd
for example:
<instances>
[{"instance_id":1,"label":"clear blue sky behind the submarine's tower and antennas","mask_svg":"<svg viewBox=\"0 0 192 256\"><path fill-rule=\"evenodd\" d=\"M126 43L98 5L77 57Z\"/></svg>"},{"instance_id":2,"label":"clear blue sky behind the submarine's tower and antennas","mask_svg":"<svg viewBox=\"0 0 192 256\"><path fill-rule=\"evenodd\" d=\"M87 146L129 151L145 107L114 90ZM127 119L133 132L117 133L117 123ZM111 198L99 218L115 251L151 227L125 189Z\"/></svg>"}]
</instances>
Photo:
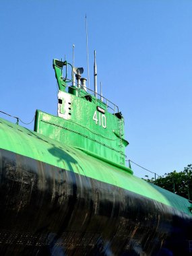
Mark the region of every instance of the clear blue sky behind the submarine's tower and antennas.
<instances>
[{"instance_id":1,"label":"clear blue sky behind the submarine's tower and antennas","mask_svg":"<svg viewBox=\"0 0 192 256\"><path fill-rule=\"evenodd\" d=\"M75 44L87 77L87 14L91 86L96 50L103 94L125 117L127 159L158 174L183 170L192 163L191 13L191 0L1 0L0 110L25 122L36 108L57 114L52 60L72 63Z\"/></svg>"}]
</instances>

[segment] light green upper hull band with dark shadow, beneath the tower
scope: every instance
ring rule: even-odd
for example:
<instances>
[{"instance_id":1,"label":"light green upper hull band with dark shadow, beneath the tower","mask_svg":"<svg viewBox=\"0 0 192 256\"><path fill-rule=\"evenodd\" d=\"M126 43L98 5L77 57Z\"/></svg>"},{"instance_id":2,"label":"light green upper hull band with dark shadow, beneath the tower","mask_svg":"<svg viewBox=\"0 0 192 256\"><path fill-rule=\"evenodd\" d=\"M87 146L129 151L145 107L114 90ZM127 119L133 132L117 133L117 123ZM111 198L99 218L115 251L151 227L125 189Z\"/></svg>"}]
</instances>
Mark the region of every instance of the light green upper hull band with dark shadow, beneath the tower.
<instances>
[{"instance_id":1,"label":"light green upper hull band with dark shadow, beneath the tower","mask_svg":"<svg viewBox=\"0 0 192 256\"><path fill-rule=\"evenodd\" d=\"M191 215L189 201L71 146L0 119L0 148L127 189ZM155 203L155 202L154 202Z\"/></svg>"}]
</instances>

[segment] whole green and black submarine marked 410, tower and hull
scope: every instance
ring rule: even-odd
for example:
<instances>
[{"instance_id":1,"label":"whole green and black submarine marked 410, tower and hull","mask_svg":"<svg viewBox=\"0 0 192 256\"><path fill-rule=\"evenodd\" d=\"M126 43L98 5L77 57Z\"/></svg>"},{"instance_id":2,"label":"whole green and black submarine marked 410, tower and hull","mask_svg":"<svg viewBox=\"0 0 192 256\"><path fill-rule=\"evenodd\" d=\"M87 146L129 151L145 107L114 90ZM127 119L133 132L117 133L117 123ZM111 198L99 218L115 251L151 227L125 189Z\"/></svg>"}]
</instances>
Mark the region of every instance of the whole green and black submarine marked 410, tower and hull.
<instances>
[{"instance_id":1,"label":"whole green and black submarine marked 410, tower and hull","mask_svg":"<svg viewBox=\"0 0 192 256\"><path fill-rule=\"evenodd\" d=\"M96 62L95 62L96 64ZM58 115L0 119L0 255L192 255L192 201L126 166L119 108L53 60ZM76 78L76 79L75 79Z\"/></svg>"}]
</instances>

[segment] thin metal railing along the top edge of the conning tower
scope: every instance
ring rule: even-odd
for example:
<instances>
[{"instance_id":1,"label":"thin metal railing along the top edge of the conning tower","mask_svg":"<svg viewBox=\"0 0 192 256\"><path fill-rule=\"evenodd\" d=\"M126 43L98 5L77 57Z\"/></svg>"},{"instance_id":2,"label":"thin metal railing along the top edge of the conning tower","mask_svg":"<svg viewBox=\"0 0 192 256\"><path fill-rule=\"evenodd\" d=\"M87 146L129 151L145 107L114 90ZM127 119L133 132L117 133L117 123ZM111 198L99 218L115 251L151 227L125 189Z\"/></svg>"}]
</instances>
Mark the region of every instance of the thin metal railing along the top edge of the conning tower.
<instances>
[{"instance_id":1,"label":"thin metal railing along the top edge of the conning tower","mask_svg":"<svg viewBox=\"0 0 192 256\"><path fill-rule=\"evenodd\" d=\"M74 84L76 84L78 86L77 82L74 82L71 79L65 79L65 82L66 82L66 80L67 80L67 82L73 82ZM79 94L80 94L81 89L83 89L90 96L95 97L95 94L96 94L96 97L94 98L96 102L100 101L100 102L103 102L104 104L106 104L106 109L113 114L119 113L119 107L117 105L115 105L113 102L111 102L110 100L108 100L107 98L105 98L104 96L98 94L98 92L94 92L94 90L87 88L86 86L82 86L82 85L80 85L80 87L77 87L77 86L74 87L74 86L69 86L68 84L66 84L66 87L73 88L73 90L74 89L77 90L78 96L80 96ZM101 98L102 98L102 100L101 100Z\"/></svg>"}]
</instances>

